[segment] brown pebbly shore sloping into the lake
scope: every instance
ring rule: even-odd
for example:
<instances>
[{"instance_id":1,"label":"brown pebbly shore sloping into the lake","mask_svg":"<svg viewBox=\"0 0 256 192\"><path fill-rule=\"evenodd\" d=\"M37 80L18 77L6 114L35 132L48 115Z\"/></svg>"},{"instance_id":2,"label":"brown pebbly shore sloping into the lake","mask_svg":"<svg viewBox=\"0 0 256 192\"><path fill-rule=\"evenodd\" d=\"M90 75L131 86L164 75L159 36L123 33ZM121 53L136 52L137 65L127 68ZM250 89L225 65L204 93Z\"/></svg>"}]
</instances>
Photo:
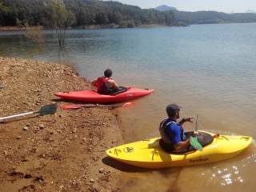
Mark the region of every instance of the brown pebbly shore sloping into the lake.
<instances>
[{"instance_id":1,"label":"brown pebbly shore sloping into the lake","mask_svg":"<svg viewBox=\"0 0 256 192\"><path fill-rule=\"evenodd\" d=\"M54 92L90 89L70 66L0 57L1 117L57 102ZM60 110L0 123L0 191L118 191L120 171L102 159L122 143L112 108Z\"/></svg>"}]
</instances>

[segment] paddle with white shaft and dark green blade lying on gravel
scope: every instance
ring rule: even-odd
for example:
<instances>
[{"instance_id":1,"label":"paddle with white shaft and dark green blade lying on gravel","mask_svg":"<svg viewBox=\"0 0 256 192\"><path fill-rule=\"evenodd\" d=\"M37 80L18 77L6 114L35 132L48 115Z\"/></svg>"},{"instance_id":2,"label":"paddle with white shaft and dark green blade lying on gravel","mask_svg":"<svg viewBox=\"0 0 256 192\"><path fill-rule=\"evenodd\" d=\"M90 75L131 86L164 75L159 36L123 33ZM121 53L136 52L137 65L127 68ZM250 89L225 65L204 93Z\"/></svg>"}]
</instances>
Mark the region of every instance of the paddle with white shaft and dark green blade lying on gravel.
<instances>
[{"instance_id":1,"label":"paddle with white shaft and dark green blade lying on gravel","mask_svg":"<svg viewBox=\"0 0 256 192\"><path fill-rule=\"evenodd\" d=\"M6 116L4 118L0 118L0 122L5 121L10 118L17 118L17 117L25 116L28 114L38 114L38 115L55 114L56 110L57 110L57 105L50 104L50 105L42 106L37 111L30 111L30 112L26 112L26 113L22 113L22 114L14 114L14 115Z\"/></svg>"}]
</instances>

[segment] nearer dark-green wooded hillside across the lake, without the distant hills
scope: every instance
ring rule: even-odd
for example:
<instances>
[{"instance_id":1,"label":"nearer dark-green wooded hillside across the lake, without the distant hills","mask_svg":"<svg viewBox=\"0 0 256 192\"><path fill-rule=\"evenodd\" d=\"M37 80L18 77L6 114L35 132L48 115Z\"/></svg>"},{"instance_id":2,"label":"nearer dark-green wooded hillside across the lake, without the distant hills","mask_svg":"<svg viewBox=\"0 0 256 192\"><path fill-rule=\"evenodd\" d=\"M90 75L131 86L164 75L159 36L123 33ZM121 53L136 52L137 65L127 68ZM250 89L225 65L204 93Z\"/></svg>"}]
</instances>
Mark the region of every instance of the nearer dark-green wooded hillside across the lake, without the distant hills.
<instances>
[{"instance_id":1,"label":"nearer dark-green wooded hillside across the lake, without the distant hills","mask_svg":"<svg viewBox=\"0 0 256 192\"><path fill-rule=\"evenodd\" d=\"M0 26L52 26L52 2L59 0L0 0ZM166 25L175 23L174 14L154 9L141 9L120 2L97 0L62 0L70 13L70 26Z\"/></svg>"}]
</instances>

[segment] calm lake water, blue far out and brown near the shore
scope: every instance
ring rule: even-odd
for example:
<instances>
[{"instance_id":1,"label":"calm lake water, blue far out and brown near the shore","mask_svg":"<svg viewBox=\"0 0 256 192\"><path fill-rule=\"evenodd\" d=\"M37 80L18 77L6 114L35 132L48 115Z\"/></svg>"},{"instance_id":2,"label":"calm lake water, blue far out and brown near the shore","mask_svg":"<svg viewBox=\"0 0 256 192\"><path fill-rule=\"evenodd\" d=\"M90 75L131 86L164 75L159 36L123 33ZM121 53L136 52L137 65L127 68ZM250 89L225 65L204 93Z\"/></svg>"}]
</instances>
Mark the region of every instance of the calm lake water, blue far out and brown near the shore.
<instances>
[{"instance_id":1,"label":"calm lake water, blue far out and brown near the shore","mask_svg":"<svg viewBox=\"0 0 256 192\"><path fill-rule=\"evenodd\" d=\"M199 129L255 138L256 24L120 30L70 30L66 50L51 31L38 45L19 32L0 32L0 55L73 65L92 80L106 68L123 86L154 89L138 105L119 109L125 142L158 136L171 102ZM186 125L193 130L194 125ZM254 191L255 140L223 162L166 170L125 170L122 191Z\"/></svg>"}]
</instances>

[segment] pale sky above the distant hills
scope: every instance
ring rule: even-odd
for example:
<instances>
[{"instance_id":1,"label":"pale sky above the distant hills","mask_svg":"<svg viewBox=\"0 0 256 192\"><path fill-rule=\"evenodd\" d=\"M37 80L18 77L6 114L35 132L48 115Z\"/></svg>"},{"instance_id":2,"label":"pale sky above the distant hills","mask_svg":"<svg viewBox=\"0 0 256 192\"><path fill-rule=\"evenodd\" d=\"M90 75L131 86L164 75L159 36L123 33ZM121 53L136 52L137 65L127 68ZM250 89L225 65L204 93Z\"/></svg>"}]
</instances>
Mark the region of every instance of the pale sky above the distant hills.
<instances>
[{"instance_id":1,"label":"pale sky above the distant hills","mask_svg":"<svg viewBox=\"0 0 256 192\"><path fill-rule=\"evenodd\" d=\"M178 10L217 10L225 13L256 12L256 0L115 0L141 8L154 8L161 5L174 6Z\"/></svg>"}]
</instances>

